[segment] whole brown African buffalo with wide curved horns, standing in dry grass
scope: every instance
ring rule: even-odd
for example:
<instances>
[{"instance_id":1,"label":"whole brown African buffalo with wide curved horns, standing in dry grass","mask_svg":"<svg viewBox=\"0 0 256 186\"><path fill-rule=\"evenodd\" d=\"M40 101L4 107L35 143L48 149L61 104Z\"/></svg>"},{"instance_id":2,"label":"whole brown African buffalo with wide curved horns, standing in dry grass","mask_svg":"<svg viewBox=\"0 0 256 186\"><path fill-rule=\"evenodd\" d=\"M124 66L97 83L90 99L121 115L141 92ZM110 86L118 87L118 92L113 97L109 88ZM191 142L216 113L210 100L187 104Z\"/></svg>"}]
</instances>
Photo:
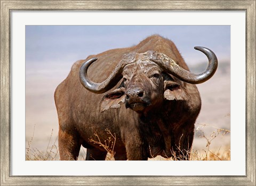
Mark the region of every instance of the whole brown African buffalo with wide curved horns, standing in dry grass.
<instances>
[{"instance_id":1,"label":"whole brown African buffalo with wide curved horns, standing in dry grass","mask_svg":"<svg viewBox=\"0 0 256 186\"><path fill-rule=\"evenodd\" d=\"M76 160L82 145L86 160L104 160L107 151L90 139L104 142L106 130L116 135L115 160L188 159L201 109L195 84L218 66L210 49L195 49L209 60L200 74L189 72L172 41L158 35L77 61L54 95L60 159Z\"/></svg>"}]
</instances>

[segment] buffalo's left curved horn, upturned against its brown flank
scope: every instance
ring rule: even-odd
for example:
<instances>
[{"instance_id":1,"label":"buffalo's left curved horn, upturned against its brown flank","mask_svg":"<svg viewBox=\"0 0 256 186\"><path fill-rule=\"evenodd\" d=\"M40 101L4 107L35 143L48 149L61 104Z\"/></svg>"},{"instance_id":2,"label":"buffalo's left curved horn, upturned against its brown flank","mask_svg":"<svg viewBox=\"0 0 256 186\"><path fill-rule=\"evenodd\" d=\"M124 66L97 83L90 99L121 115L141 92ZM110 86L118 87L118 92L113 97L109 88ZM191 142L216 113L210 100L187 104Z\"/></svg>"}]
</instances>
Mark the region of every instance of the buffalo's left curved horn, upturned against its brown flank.
<instances>
[{"instance_id":1,"label":"buffalo's left curved horn, upturned against its brown flank","mask_svg":"<svg viewBox=\"0 0 256 186\"><path fill-rule=\"evenodd\" d=\"M84 64L82 64L79 71L79 80L87 90L96 94L102 94L113 88L122 78L121 72L123 69L123 65L118 63L115 70L109 75L109 77L105 81L103 81L102 83L95 83L88 78L87 69L96 60L97 58L93 57L90 60L86 61Z\"/></svg>"}]
</instances>

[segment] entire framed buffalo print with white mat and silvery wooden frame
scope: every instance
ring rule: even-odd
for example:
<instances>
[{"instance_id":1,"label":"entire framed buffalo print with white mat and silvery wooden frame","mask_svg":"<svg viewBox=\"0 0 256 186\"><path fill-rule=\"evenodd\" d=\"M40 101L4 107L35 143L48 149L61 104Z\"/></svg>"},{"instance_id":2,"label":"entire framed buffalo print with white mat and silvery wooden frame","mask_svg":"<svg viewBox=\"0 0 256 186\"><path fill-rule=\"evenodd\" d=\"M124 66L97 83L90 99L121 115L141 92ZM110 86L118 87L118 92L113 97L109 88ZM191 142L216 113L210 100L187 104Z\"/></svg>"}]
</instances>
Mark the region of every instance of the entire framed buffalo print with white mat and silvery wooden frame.
<instances>
[{"instance_id":1,"label":"entire framed buffalo print with white mat and silvery wooden frame","mask_svg":"<svg viewBox=\"0 0 256 186\"><path fill-rule=\"evenodd\" d=\"M1 185L255 185L255 44L255 1L1 1ZM175 47L179 51L167 57L164 53L169 50L162 49L166 45L172 46L172 51ZM210 52L196 47L201 51L197 52L195 46L210 48ZM134 51L138 54L132 53ZM209 59L207 70L215 72L217 58L218 68L211 79L205 78L206 82L197 85L200 96L198 93L194 96L191 92L197 89L183 86L176 78L195 83L196 80L187 77L197 79L195 74L205 71L207 58L202 52ZM183 58L177 57L180 54ZM149 97L153 95L149 94L149 84L146 88L143 83L139 88L131 85L134 81L138 86L139 82L134 80L139 73L129 77L131 72L137 73L127 70L131 64L120 67L123 79L115 80L119 84L109 88L109 84L114 83L111 80L114 76L110 74L121 70L118 70L119 63L109 65L104 61L122 64L122 56L126 63L136 58L141 64L148 64L147 60L157 64L153 70L145 70L149 75L142 76L145 82L153 82L153 88L157 84L154 81L163 80L163 99L185 104L191 97L198 98L198 102L189 105L192 114L176 111L175 117L171 117L176 123L181 118L193 120L192 125L186 125L186 130L173 125L173 129L167 131L163 124L167 118L159 114L165 112L162 98ZM106 60L102 60L104 57ZM167 62L159 63L159 59L166 58ZM195 74L182 77L176 73L175 77L176 71L168 69L175 64L178 69L186 69L183 59ZM86 80L81 75L83 71L79 81L80 67L77 66L85 61L93 62L88 76L90 79L94 74L94 78ZM168 73L158 73L159 66ZM90 68L94 71L90 72ZM100 69L106 72L98 75L97 80L95 74L99 74ZM111 83L106 84L105 79ZM96 93L112 88L113 92L104 93L106 95L98 99L99 96L92 93L82 94L80 82ZM106 86L101 88L102 84ZM132 90L137 93L130 94ZM79 102L81 99L84 102ZM198 104L201 101L202 107ZM154 106L151 103L157 103L157 109L161 110L152 113L161 116L154 117L157 127L145 125L143 129L148 130L141 130L148 141L145 147L151 155L148 156L143 155L145 151L138 145L143 146L145 141L133 141L140 139L136 136L140 130L134 124L137 120L133 120L133 114L140 115L142 125L142 121L146 121L145 113L150 113ZM129 120L119 112L119 108L126 109L125 106L129 112L134 111ZM83 109L91 114L84 118ZM199 113L198 117L192 111ZM114 120L111 114L115 115ZM68 118L79 123L72 130L79 131L82 141L71 140L78 136L67 132L70 131L66 130L70 127L67 123L72 123L67 122ZM88 125L84 119L94 124ZM107 121L123 128L114 128ZM105 133L97 133L95 122L101 123L99 128L104 125L105 137L109 136L105 141L101 138ZM81 126L84 127L78 129ZM84 130L92 132L83 133ZM150 136L152 131L156 136L161 133L157 143L150 142L157 138ZM172 133L170 139L168 132ZM174 134L179 137L175 139ZM188 134L184 137L187 142L181 143L183 134ZM194 138L192 145L189 135ZM126 137L125 153L116 148L124 148L123 136ZM168 151L172 144L169 141L176 141L173 145L176 151ZM167 150L162 145L159 149L162 143ZM71 148L67 144L75 145ZM80 148L81 145L85 148ZM96 147L106 151L102 155L100 150L99 154ZM87 150L87 157L86 148L94 149ZM127 149L134 150L129 154ZM105 157L117 161L99 161ZM148 161L141 161L146 159Z\"/></svg>"}]
</instances>

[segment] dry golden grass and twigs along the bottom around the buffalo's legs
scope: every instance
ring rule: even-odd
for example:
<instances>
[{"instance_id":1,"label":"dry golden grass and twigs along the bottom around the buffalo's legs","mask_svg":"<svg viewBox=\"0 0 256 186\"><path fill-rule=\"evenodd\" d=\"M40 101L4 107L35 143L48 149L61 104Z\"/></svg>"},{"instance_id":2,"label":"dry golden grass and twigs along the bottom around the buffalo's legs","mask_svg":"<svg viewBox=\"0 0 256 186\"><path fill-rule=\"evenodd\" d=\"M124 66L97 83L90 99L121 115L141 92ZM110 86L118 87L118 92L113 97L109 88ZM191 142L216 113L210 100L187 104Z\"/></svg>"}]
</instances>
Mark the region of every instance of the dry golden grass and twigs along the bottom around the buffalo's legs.
<instances>
[{"instance_id":1,"label":"dry golden grass and twigs along the bottom around the buffalo's legs","mask_svg":"<svg viewBox=\"0 0 256 186\"><path fill-rule=\"evenodd\" d=\"M203 131L206 126L214 129L214 131L211 132L210 135L205 135ZM35 131L35 127L34 127L34 131ZM107 151L106 160L115 160L114 148L115 148L115 142L116 142L116 134L111 133L109 129L106 129L105 131L109 135L109 137L106 140L101 141L98 134L95 133L94 138L90 138L89 141L99 145L100 147L103 147L103 149ZM155 158L149 158L148 160L230 160L229 146L227 147L219 146L218 148L211 147L212 141L214 139L217 139L218 137L229 134L230 133L229 130L220 129L211 125L199 124L195 132L197 134L197 137L201 138L202 140L205 140L205 148L194 149L194 147L192 147L191 150L189 151L189 150L181 150L180 147L177 147L177 149L181 152L179 156L173 153L173 157L171 158L163 158L161 156L157 156ZM53 130L52 130L52 133L53 133ZM55 139L53 144L50 145L52 133L51 133L50 140L45 152L42 152L37 148L33 147L33 138L34 138L34 132L33 132L33 137L31 137L31 140L28 141L28 147L26 148L26 160L59 160L57 159L57 157L59 157L58 148L55 145L58 137ZM187 158L187 154L190 154L189 159ZM84 160L85 156L86 156L86 152L84 148L81 148L81 152L79 154L78 160Z\"/></svg>"}]
</instances>

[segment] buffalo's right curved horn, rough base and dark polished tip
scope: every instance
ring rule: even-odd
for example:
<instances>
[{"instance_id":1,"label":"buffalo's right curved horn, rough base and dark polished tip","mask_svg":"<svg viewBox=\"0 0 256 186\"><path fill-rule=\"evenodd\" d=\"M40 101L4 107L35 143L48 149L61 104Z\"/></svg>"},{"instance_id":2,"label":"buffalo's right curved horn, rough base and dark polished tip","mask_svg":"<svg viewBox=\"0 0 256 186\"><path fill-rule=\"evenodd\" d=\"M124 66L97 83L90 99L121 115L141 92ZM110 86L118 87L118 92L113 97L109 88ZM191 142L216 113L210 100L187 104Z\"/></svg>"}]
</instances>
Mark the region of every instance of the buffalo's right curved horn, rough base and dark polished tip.
<instances>
[{"instance_id":1,"label":"buffalo's right curved horn, rough base and dark polished tip","mask_svg":"<svg viewBox=\"0 0 256 186\"><path fill-rule=\"evenodd\" d=\"M161 66L167 73L170 73L174 75L175 77L179 78L182 81L191 83L191 84L199 84L203 83L207 80L209 80L218 67L218 59L216 55L210 50L209 48L205 47L194 47L196 50L199 50L203 52L209 62L207 69L199 74L194 74L192 72L189 72L182 67L180 67L175 61L173 61L171 58L167 57L164 54L156 54L152 53L153 51L150 51L150 60L157 63L159 66Z\"/></svg>"}]
</instances>

